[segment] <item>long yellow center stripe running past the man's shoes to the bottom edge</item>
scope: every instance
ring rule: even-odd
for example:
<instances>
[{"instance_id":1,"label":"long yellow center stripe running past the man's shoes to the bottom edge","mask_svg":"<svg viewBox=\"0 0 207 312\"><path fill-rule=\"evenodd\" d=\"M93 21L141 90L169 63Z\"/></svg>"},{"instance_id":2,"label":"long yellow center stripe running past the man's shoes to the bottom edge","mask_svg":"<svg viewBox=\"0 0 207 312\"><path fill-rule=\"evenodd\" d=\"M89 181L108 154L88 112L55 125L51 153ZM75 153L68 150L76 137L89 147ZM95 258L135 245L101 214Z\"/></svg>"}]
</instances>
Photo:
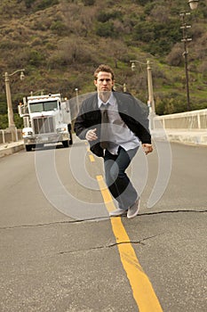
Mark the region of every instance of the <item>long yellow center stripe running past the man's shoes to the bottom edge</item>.
<instances>
[{"instance_id":1,"label":"long yellow center stripe running past the man's shoes to the bottom edge","mask_svg":"<svg viewBox=\"0 0 207 312\"><path fill-rule=\"evenodd\" d=\"M107 210L114 210L115 205L103 177L97 176L96 178L100 185L100 192L103 196ZM139 264L139 260L137 259L136 253L130 243L130 238L123 227L121 218L110 218L110 220L123 268L131 283L133 297L139 307L139 312L163 312L159 300L155 295L153 286Z\"/></svg>"}]
</instances>

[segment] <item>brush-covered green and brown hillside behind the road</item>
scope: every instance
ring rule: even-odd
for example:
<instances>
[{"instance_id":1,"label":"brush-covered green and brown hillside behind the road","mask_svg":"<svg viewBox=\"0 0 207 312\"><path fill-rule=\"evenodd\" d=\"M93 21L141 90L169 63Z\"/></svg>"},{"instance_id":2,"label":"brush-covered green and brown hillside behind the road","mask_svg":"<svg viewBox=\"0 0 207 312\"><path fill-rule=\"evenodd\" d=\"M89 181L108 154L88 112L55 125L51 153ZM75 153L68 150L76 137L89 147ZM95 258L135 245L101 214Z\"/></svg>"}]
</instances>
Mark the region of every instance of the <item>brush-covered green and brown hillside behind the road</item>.
<instances>
[{"instance_id":1,"label":"brush-covered green and brown hillside behind the road","mask_svg":"<svg viewBox=\"0 0 207 312\"><path fill-rule=\"evenodd\" d=\"M116 88L147 102L147 60L152 63L158 114L185 111L186 76L179 12L187 0L1 0L0 113L6 113L4 72L25 69L25 79L11 77L14 111L31 91L76 96L94 91L93 70L100 63L115 68ZM207 107L207 10L187 16L191 109ZM131 60L136 70L131 71ZM0 125L1 127L1 125Z\"/></svg>"}]
</instances>

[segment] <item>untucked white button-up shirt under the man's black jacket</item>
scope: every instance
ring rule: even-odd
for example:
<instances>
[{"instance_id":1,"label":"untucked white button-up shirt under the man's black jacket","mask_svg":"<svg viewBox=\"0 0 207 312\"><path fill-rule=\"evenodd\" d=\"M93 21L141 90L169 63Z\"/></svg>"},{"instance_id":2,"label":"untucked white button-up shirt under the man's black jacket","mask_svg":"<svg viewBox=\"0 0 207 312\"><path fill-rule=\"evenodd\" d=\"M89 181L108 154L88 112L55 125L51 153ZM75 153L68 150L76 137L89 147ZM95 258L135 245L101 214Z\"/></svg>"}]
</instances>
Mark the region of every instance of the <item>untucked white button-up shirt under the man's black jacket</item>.
<instances>
[{"instance_id":1,"label":"untucked white button-up shirt under the man's black jacket","mask_svg":"<svg viewBox=\"0 0 207 312\"><path fill-rule=\"evenodd\" d=\"M107 108L107 116L109 120L107 132L110 134L107 146L108 152L117 155L119 146L122 146L125 151L138 147L140 144L139 138L134 135L131 129L123 122L123 119L121 119L113 93L111 93L107 103L109 104ZM103 103L98 95L99 108L101 104L106 105L107 103Z\"/></svg>"}]
</instances>

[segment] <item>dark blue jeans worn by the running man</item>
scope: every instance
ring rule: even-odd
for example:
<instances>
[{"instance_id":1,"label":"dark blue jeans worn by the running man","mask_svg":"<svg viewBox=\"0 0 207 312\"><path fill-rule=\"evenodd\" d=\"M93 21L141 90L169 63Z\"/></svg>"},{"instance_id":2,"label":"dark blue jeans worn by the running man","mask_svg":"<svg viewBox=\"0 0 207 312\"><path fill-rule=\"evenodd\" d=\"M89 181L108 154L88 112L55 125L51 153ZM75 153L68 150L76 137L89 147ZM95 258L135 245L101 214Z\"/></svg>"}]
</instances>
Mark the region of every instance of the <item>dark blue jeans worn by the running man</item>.
<instances>
[{"instance_id":1,"label":"dark blue jeans worn by the running man","mask_svg":"<svg viewBox=\"0 0 207 312\"><path fill-rule=\"evenodd\" d=\"M120 209L129 209L139 197L125 173L138 149L139 146L125 151L120 146L117 155L113 155L107 150L105 151L104 168L107 187L115 200L118 201Z\"/></svg>"}]
</instances>

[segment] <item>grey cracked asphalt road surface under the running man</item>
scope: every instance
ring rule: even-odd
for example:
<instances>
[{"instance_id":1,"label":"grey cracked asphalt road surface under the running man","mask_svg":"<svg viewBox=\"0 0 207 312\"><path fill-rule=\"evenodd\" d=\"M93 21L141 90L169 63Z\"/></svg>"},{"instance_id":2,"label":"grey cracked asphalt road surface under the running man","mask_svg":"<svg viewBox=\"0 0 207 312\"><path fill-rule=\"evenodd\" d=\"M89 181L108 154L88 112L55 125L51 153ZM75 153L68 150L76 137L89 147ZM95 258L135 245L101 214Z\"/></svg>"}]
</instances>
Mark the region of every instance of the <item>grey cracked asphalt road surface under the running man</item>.
<instances>
[{"instance_id":1,"label":"grey cracked asphalt road surface under the running man","mask_svg":"<svg viewBox=\"0 0 207 312\"><path fill-rule=\"evenodd\" d=\"M130 241L120 244L164 312L206 310L206 154L155 142L129 168L141 209L121 219ZM102 162L84 142L12 154L0 172L0 311L158 311L136 301L97 181Z\"/></svg>"}]
</instances>

